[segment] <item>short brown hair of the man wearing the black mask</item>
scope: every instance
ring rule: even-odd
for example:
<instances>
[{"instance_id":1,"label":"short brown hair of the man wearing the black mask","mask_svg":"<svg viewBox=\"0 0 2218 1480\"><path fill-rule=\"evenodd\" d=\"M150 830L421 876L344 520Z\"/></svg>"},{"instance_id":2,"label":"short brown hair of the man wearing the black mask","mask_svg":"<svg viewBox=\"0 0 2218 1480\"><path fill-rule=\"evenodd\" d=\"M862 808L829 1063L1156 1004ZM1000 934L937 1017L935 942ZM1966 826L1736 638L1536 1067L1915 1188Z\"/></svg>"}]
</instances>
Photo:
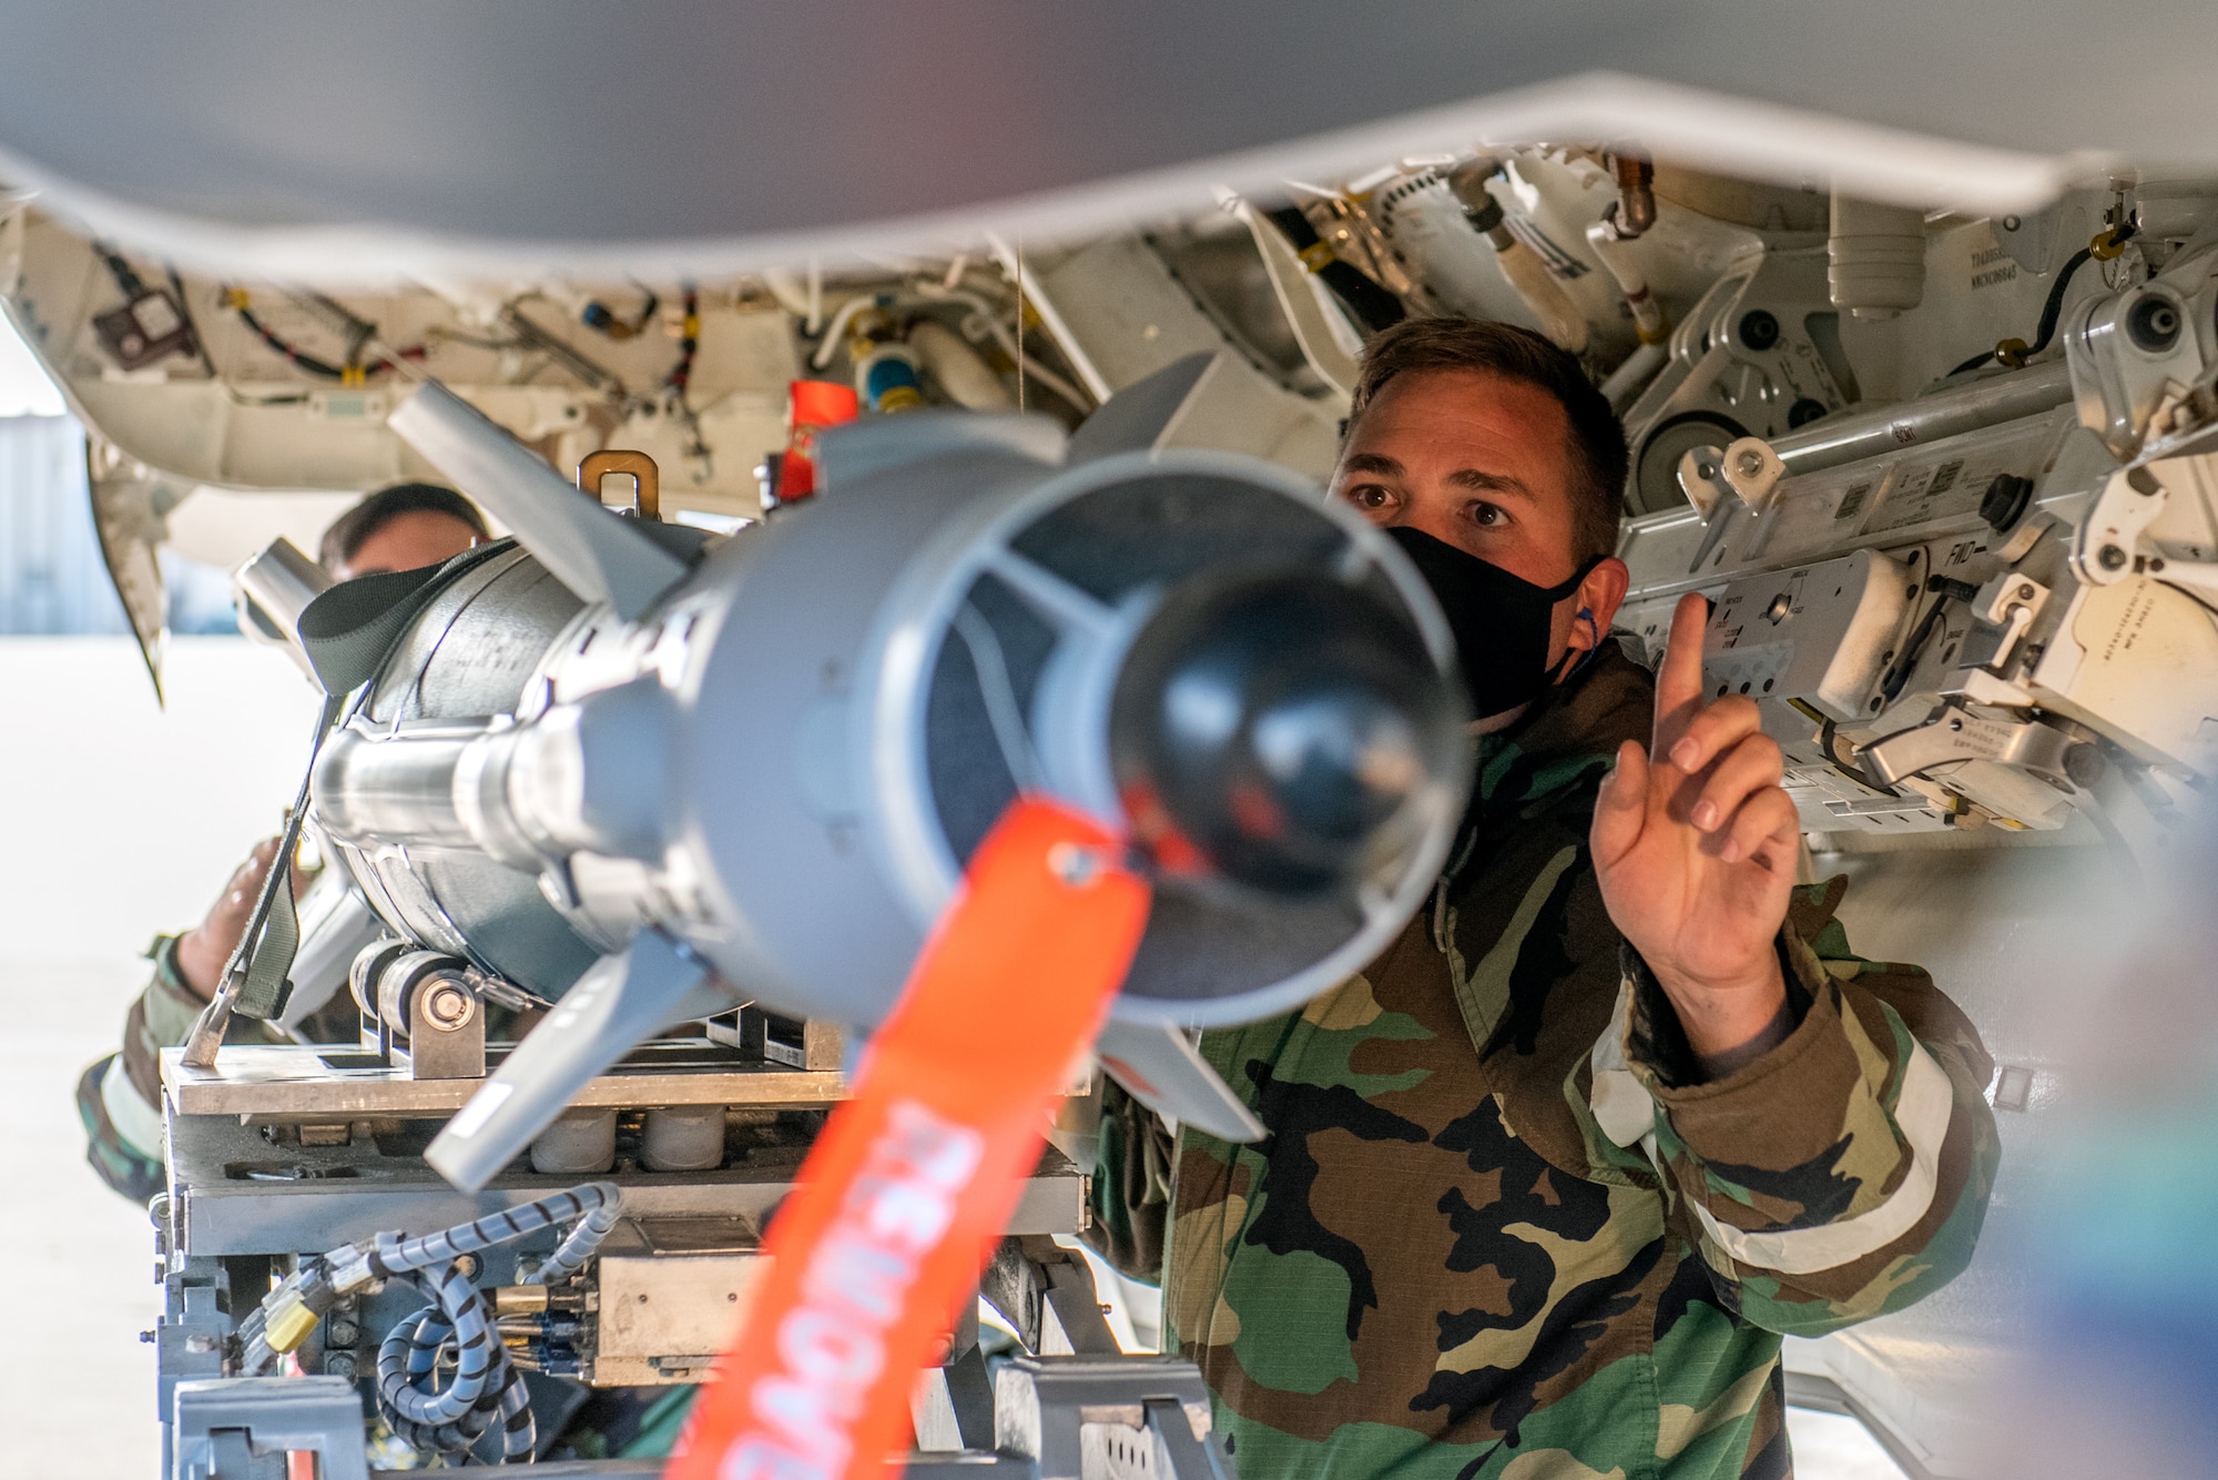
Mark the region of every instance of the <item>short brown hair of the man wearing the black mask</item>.
<instances>
[{"instance_id":1,"label":"short brown hair of the man wearing the black mask","mask_svg":"<svg viewBox=\"0 0 2218 1480\"><path fill-rule=\"evenodd\" d=\"M1573 555L1584 561L1617 553L1617 521L1626 513L1626 426L1575 355L1515 324L1402 320L1364 346L1349 433L1380 388L1408 371L1482 371L1555 397L1570 424Z\"/></svg>"}]
</instances>

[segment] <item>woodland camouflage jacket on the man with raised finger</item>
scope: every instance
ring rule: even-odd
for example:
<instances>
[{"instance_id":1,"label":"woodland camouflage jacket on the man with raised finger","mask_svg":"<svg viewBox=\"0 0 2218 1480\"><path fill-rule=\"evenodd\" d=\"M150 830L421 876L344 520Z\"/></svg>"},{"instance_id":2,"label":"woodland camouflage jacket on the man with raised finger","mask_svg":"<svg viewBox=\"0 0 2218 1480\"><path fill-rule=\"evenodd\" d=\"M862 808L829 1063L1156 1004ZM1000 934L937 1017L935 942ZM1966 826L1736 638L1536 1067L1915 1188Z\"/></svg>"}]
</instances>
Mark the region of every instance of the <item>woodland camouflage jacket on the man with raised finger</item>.
<instances>
[{"instance_id":1,"label":"woodland camouflage jacket on the man with raised finger","mask_svg":"<svg viewBox=\"0 0 2218 1480\"><path fill-rule=\"evenodd\" d=\"M1610 650L1482 741L1433 908L1306 1010L1204 1034L1264 1141L1173 1158L1113 1096L1096 1238L1162 1274L1242 1480L1788 1476L1781 1334L1970 1258L1992 1065L1921 970L1848 952L1845 881L1781 934L1794 1032L1717 1083L1621 956L1586 832L1650 703Z\"/></svg>"}]
</instances>

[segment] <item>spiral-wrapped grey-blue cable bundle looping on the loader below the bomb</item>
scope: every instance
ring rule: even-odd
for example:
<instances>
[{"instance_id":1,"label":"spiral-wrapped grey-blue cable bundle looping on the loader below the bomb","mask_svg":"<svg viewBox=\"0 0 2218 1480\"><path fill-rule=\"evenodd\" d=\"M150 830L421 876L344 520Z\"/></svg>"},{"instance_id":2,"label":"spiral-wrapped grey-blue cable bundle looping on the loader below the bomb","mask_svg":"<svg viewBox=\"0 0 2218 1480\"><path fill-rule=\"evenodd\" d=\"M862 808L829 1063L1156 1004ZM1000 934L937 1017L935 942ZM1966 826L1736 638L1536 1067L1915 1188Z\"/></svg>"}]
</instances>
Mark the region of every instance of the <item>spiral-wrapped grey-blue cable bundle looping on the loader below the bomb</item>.
<instances>
[{"instance_id":1,"label":"spiral-wrapped grey-blue cable bundle looping on the loader below the bomb","mask_svg":"<svg viewBox=\"0 0 2218 1480\"><path fill-rule=\"evenodd\" d=\"M333 1305L386 1280L424 1294L426 1305L399 1320L377 1349L377 1409L393 1433L430 1453L461 1456L501 1422L501 1462L528 1460L537 1444L523 1373L501 1342L492 1307L470 1280L472 1254L570 1225L554 1254L526 1285L561 1285L577 1274L623 1214L614 1183L570 1192L488 1214L421 1238L373 1238L302 1260L262 1305L240 1322L240 1371L266 1373L293 1351ZM439 1371L452 1360L452 1376Z\"/></svg>"}]
</instances>

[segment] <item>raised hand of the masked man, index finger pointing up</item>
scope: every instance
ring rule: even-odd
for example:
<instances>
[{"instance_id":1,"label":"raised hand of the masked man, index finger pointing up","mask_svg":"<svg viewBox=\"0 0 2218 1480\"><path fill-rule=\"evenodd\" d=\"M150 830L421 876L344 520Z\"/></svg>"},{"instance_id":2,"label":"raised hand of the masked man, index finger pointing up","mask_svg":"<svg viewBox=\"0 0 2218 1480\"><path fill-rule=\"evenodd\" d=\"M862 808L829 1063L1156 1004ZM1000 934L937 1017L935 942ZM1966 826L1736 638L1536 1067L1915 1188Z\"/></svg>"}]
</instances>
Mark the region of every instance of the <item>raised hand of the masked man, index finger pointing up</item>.
<instances>
[{"instance_id":1,"label":"raised hand of the masked man, index finger pointing up","mask_svg":"<svg viewBox=\"0 0 2218 1480\"><path fill-rule=\"evenodd\" d=\"M1708 601L1683 597L1657 672L1655 750L1626 741L1595 805L1595 874L1617 930L1717 1058L1779 1016L1774 941L1794 888L1797 817L1750 699L1701 692Z\"/></svg>"}]
</instances>

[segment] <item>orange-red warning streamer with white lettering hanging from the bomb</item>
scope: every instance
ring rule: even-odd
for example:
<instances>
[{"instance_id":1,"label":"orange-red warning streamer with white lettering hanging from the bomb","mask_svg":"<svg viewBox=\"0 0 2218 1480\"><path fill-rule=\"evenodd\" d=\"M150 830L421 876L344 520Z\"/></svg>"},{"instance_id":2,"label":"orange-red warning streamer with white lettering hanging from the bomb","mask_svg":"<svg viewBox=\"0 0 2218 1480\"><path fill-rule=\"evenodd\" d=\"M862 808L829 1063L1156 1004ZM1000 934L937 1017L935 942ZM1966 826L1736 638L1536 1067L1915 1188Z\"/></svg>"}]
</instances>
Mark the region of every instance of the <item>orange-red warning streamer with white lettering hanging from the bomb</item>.
<instances>
[{"instance_id":1,"label":"orange-red warning streamer with white lettering hanging from the bomb","mask_svg":"<svg viewBox=\"0 0 2218 1480\"><path fill-rule=\"evenodd\" d=\"M1085 814L1003 814L772 1223L770 1271L665 1476L883 1476L1147 910Z\"/></svg>"}]
</instances>

